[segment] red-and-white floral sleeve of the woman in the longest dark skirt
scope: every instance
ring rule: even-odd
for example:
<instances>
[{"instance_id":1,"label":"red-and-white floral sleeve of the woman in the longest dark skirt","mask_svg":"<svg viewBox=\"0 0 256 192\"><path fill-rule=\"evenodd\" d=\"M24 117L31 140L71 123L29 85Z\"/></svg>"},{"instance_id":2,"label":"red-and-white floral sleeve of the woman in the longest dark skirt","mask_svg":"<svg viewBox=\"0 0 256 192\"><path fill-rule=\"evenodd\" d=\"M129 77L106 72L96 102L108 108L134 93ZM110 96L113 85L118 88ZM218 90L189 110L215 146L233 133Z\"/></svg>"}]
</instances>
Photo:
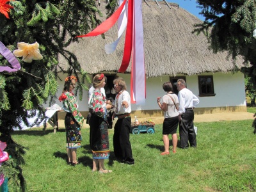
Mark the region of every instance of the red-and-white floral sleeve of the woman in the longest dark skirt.
<instances>
[{"instance_id":1,"label":"red-and-white floral sleeve of the woman in the longest dark skirt","mask_svg":"<svg viewBox=\"0 0 256 192\"><path fill-rule=\"evenodd\" d=\"M93 92L93 102L92 102L92 110L93 112L100 117L104 117L105 111L106 111L106 107L105 103L106 103L106 99L103 96L103 94L99 91L99 90L95 90L95 92Z\"/></svg>"}]
</instances>

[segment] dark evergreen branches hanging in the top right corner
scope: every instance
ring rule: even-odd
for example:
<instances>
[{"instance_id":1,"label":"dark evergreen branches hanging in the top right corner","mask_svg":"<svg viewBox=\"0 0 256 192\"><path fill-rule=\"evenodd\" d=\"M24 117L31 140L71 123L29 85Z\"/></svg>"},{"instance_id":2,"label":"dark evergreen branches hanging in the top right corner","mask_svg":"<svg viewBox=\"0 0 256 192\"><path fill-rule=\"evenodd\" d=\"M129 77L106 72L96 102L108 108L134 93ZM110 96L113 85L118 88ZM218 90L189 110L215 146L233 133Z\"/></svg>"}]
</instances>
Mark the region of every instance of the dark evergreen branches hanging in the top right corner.
<instances>
[{"instance_id":1,"label":"dark evergreen branches hanging in the top right corner","mask_svg":"<svg viewBox=\"0 0 256 192\"><path fill-rule=\"evenodd\" d=\"M241 69L250 86L248 92L256 90L256 40L253 30L256 28L255 0L198 0L198 7L205 20L197 24L194 33L203 32L208 36L214 52L228 51L230 58L236 61L243 56L245 67ZM247 66L247 63L250 66ZM236 66L234 65L236 70ZM253 96L255 97L255 96Z\"/></svg>"}]
</instances>

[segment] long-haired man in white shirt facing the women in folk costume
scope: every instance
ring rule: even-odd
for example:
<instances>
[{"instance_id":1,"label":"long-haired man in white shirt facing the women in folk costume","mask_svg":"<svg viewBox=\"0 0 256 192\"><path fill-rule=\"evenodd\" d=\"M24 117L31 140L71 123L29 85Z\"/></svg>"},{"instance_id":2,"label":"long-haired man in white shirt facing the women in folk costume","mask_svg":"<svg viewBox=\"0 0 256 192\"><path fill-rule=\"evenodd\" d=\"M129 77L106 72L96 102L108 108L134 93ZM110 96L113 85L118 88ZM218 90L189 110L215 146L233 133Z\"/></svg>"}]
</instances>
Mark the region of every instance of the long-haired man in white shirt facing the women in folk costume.
<instances>
[{"instance_id":1,"label":"long-haired man in white shirt facing the women in folk costume","mask_svg":"<svg viewBox=\"0 0 256 192\"><path fill-rule=\"evenodd\" d=\"M115 115L118 120L115 124L113 146L114 153L118 161L126 164L134 164L132 148L130 143L131 131L131 97L126 91L126 84L121 77L114 80Z\"/></svg>"}]
</instances>

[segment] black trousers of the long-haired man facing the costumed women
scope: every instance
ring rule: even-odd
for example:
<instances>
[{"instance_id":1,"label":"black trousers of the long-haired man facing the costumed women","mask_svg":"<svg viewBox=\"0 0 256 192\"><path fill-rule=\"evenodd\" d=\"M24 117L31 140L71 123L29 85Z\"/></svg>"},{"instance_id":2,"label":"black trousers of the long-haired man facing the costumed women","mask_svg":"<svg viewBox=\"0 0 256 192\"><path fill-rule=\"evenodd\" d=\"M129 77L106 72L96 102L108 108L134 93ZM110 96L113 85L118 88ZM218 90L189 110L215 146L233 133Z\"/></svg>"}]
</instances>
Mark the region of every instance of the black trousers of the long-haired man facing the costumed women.
<instances>
[{"instance_id":1,"label":"black trousers of the long-haired man facing the costumed women","mask_svg":"<svg viewBox=\"0 0 256 192\"><path fill-rule=\"evenodd\" d=\"M127 164L134 164L130 143L131 116L117 120L114 128L113 146L117 159Z\"/></svg>"}]
</instances>

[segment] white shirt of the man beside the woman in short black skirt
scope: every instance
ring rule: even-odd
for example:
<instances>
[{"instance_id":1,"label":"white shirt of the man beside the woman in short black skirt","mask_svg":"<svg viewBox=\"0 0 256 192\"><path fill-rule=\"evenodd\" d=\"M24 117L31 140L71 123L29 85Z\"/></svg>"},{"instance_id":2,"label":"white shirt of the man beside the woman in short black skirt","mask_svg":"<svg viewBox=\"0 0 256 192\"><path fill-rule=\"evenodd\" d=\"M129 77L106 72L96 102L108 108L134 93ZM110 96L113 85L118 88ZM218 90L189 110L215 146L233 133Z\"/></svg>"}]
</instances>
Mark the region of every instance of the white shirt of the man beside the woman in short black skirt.
<instances>
[{"instance_id":1,"label":"white shirt of the man beside the woman in short black skirt","mask_svg":"<svg viewBox=\"0 0 256 192\"><path fill-rule=\"evenodd\" d=\"M194 95L190 90L187 88L183 88L178 93L179 98L179 115L185 113L186 109L188 108L195 108L198 103L199 99Z\"/></svg>"}]
</instances>

